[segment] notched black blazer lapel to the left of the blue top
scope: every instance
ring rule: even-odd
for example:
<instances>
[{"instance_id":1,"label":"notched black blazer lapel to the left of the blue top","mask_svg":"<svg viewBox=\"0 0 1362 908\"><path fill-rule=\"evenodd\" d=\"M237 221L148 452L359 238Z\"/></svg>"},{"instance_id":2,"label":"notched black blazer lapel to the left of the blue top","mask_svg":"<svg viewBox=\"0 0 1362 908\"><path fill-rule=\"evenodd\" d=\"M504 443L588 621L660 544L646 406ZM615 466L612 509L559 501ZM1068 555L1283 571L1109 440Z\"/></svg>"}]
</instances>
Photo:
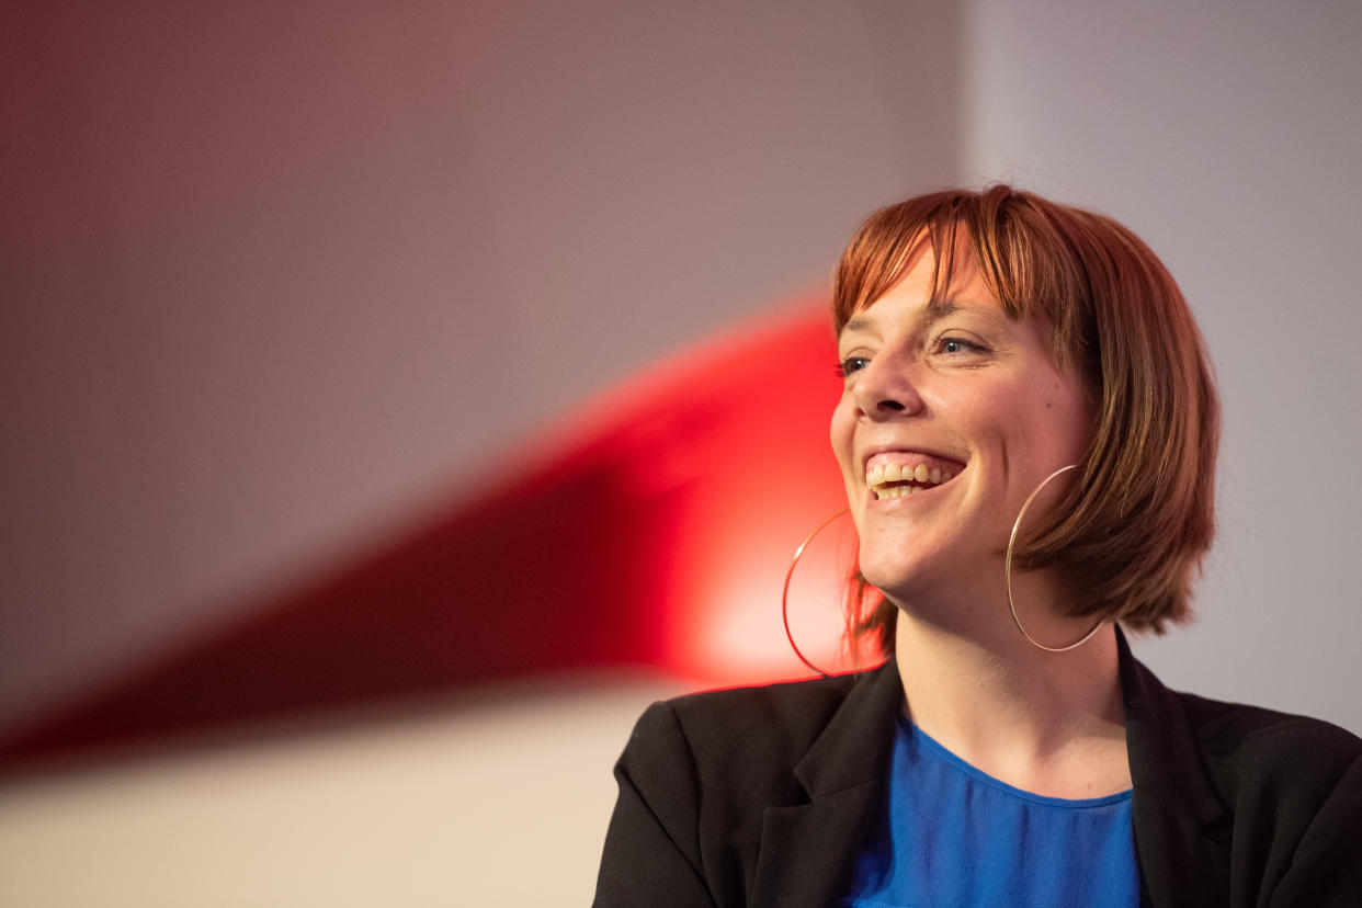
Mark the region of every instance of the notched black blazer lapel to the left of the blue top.
<instances>
[{"instance_id":1,"label":"notched black blazer lapel to the left of the blue top","mask_svg":"<svg viewBox=\"0 0 1362 908\"><path fill-rule=\"evenodd\" d=\"M795 765L808 803L767 809L749 900L753 908L823 908L840 894L880 802L902 702L891 659L859 679Z\"/></svg>"}]
</instances>

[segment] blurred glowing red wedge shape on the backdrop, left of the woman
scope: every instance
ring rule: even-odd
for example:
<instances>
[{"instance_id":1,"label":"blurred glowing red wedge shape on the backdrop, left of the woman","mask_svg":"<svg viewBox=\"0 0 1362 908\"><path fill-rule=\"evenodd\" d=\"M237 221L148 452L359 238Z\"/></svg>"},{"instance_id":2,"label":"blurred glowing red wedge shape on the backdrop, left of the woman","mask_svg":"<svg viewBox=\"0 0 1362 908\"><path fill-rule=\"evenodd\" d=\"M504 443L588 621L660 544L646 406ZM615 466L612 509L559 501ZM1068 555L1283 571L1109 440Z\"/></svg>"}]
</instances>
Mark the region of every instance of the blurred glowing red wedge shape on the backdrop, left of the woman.
<instances>
[{"instance_id":1,"label":"blurred glowing red wedge shape on the backdrop, left of the woman","mask_svg":"<svg viewBox=\"0 0 1362 908\"><path fill-rule=\"evenodd\" d=\"M4 756L567 668L655 666L706 685L808 675L780 587L799 540L844 505L825 313L809 301L639 376L518 445L535 452L503 463L518 482L488 482L248 622L114 679ZM846 521L831 527L794 584L791 623L820 667L843 664L850 539Z\"/></svg>"}]
</instances>

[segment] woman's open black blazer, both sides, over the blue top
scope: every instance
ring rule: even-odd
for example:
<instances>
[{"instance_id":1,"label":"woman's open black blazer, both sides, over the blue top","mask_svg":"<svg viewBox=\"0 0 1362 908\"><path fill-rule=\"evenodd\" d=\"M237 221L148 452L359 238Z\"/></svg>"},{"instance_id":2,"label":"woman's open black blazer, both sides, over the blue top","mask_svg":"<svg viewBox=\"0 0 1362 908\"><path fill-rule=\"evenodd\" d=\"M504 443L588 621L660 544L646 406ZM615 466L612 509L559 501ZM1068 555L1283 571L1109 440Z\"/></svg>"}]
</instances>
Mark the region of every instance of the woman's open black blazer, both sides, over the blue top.
<instances>
[{"instance_id":1,"label":"woman's open black blazer, both sides, over the blue top","mask_svg":"<svg viewBox=\"0 0 1362 908\"><path fill-rule=\"evenodd\" d=\"M1120 653L1141 901L1362 907L1362 741L1171 692ZM902 697L891 660L650 707L616 765L595 904L832 904Z\"/></svg>"}]
</instances>

